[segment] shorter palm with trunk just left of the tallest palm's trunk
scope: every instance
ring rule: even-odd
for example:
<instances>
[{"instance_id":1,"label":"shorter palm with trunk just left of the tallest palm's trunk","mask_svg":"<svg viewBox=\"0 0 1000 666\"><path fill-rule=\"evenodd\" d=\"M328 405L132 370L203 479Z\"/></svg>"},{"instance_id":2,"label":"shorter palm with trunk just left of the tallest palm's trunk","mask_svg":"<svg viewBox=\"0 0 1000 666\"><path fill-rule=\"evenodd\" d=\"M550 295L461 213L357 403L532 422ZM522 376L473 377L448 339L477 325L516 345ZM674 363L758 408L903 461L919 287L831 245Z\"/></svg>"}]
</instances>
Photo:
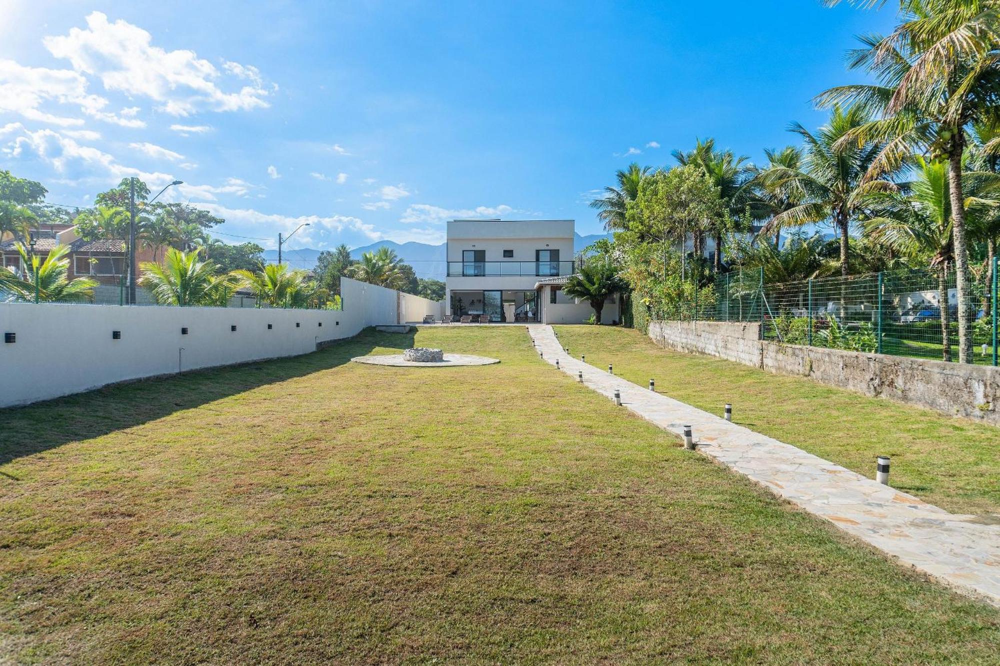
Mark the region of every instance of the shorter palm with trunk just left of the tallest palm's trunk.
<instances>
[{"instance_id":1,"label":"shorter palm with trunk just left of the tallest palm's trunk","mask_svg":"<svg viewBox=\"0 0 1000 666\"><path fill-rule=\"evenodd\" d=\"M955 261L951 209L950 180L947 163L916 158L916 179L904 184L899 191L872 195L873 217L864 223L873 240L908 256L929 256L932 270L938 274L938 305L941 309L941 353L951 360L951 340L948 323L948 273ZM988 210L993 203L988 180L965 178L966 192L959 197L962 207L974 217ZM973 186L978 191L972 191ZM995 189L992 188L992 189ZM992 198L996 198L993 194Z\"/></svg>"}]
</instances>

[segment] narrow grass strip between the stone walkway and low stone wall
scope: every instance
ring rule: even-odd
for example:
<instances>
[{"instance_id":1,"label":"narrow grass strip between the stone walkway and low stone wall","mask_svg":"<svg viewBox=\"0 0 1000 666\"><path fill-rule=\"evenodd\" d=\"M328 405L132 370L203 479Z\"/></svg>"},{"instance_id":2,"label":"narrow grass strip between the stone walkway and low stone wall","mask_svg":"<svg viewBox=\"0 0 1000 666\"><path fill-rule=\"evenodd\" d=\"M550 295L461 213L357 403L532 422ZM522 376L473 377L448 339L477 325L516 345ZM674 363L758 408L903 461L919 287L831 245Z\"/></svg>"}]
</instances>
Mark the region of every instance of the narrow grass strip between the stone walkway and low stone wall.
<instances>
[{"instance_id":1,"label":"narrow grass strip between the stone walkway and low stone wall","mask_svg":"<svg viewBox=\"0 0 1000 666\"><path fill-rule=\"evenodd\" d=\"M1000 519L1000 428L870 398L804 377L662 349L639 331L559 326L574 356L695 407L794 444L860 474L892 457L892 485L949 511Z\"/></svg>"}]
</instances>

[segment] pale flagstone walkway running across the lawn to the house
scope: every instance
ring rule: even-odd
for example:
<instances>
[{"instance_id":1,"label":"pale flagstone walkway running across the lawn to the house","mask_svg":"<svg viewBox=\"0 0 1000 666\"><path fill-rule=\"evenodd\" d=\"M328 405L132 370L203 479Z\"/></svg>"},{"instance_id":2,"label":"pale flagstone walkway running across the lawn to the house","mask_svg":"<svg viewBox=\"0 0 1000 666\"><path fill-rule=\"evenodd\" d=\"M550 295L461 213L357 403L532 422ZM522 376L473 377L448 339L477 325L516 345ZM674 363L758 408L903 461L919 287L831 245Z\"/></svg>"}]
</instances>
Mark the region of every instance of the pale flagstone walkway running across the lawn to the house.
<instances>
[{"instance_id":1,"label":"pale flagstone walkway running across the lawn to the house","mask_svg":"<svg viewBox=\"0 0 1000 666\"><path fill-rule=\"evenodd\" d=\"M1000 606L1000 525L972 522L802 449L729 423L566 354L551 326L528 333L544 360L678 435L692 426L698 451L806 511L966 593ZM669 377L656 377L668 381ZM722 411L722 405L719 405ZM875 460L872 459L874 474ZM891 483L891 476L890 476Z\"/></svg>"}]
</instances>

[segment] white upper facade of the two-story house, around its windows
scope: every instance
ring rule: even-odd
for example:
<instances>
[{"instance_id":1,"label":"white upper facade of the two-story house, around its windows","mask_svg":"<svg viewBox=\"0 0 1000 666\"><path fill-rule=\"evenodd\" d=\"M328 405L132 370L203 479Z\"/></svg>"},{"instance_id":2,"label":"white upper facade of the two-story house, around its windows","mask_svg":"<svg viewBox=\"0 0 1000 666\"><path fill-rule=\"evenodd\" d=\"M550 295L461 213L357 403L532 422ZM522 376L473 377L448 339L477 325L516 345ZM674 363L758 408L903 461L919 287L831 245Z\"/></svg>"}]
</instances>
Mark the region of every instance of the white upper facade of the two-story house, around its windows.
<instances>
[{"instance_id":1,"label":"white upper facade of the two-story house, around its windows","mask_svg":"<svg viewBox=\"0 0 1000 666\"><path fill-rule=\"evenodd\" d=\"M573 261L573 220L452 220L448 222L448 276L445 279L445 308L452 312L452 292L511 291L532 292L538 275L534 265L537 250L558 250L560 268L571 272ZM486 273L516 272L524 275L452 275L461 273L463 251L482 250ZM513 256L504 257L504 250ZM507 262L501 264L500 262ZM523 262L519 266L510 262Z\"/></svg>"}]
</instances>

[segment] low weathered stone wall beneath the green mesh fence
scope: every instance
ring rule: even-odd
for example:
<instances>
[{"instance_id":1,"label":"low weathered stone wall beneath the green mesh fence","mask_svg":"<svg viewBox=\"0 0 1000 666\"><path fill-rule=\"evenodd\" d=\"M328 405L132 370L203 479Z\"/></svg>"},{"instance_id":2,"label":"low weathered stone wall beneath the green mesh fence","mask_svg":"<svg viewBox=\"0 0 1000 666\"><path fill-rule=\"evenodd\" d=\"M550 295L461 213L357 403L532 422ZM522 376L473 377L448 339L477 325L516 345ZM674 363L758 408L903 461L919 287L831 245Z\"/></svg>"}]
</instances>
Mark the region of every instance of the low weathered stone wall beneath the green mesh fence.
<instances>
[{"instance_id":1,"label":"low weathered stone wall beneath the green mesh fence","mask_svg":"<svg viewBox=\"0 0 1000 666\"><path fill-rule=\"evenodd\" d=\"M756 323L653 321L649 337L676 351L709 354L768 372L890 398L1000 425L1000 369L759 340Z\"/></svg>"}]
</instances>

